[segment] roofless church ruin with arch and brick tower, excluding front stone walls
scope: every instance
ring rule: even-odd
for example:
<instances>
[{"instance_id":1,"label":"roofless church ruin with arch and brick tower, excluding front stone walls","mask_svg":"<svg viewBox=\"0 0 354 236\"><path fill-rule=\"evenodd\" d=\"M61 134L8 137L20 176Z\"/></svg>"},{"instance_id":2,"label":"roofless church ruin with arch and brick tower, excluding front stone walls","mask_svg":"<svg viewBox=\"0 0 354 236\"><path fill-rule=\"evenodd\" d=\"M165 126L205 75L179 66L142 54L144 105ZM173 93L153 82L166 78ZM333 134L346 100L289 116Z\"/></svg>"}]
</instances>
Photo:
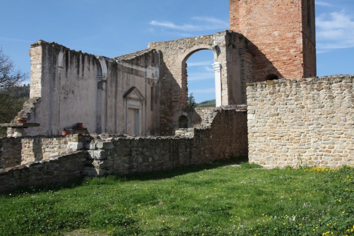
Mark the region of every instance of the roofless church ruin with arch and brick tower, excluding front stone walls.
<instances>
[{"instance_id":1,"label":"roofless church ruin with arch and brick tower, excluding front stone walls","mask_svg":"<svg viewBox=\"0 0 354 236\"><path fill-rule=\"evenodd\" d=\"M29 135L58 135L83 122L89 133L173 135L186 109L186 60L214 55L216 106L246 104L246 84L316 76L314 0L230 0L230 30L149 43L116 58L38 41L30 46Z\"/></svg>"}]
</instances>

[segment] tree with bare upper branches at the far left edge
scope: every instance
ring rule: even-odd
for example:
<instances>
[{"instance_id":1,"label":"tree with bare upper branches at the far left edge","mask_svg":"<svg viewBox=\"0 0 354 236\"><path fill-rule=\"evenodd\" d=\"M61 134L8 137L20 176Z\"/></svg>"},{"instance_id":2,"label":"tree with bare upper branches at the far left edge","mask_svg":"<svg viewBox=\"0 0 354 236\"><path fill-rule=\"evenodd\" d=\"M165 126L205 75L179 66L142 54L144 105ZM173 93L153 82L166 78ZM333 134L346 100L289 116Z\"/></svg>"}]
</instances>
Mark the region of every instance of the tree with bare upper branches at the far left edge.
<instances>
[{"instance_id":1,"label":"tree with bare upper branches at the far left edge","mask_svg":"<svg viewBox=\"0 0 354 236\"><path fill-rule=\"evenodd\" d=\"M8 123L15 118L28 99L29 86L21 86L27 77L28 74L16 69L0 48L0 123ZM0 137L3 136L6 136L6 130L0 129Z\"/></svg>"}]
</instances>

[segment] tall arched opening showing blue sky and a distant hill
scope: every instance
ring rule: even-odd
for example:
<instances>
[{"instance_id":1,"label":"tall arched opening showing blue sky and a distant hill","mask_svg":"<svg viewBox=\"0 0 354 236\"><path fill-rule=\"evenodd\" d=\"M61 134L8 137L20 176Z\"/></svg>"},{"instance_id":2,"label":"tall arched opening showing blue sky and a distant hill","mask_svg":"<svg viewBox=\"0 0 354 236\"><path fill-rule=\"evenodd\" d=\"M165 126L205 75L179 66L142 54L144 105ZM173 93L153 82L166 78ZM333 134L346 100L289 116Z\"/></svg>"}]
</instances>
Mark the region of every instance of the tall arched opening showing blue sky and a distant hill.
<instances>
[{"instance_id":1,"label":"tall arched opening showing blue sky and a distant hill","mask_svg":"<svg viewBox=\"0 0 354 236\"><path fill-rule=\"evenodd\" d=\"M197 107L215 107L215 72L211 50L193 52L186 60L188 97L192 94Z\"/></svg>"}]
</instances>

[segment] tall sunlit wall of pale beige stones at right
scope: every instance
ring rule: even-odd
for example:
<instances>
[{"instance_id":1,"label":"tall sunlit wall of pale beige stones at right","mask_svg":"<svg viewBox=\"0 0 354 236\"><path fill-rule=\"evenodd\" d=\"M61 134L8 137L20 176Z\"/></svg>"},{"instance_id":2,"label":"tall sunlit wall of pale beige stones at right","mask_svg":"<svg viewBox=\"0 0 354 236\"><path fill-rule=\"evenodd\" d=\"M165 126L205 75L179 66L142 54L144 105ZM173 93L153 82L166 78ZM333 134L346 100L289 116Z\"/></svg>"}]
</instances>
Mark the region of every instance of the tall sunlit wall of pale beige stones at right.
<instances>
[{"instance_id":1,"label":"tall sunlit wall of pale beige stones at right","mask_svg":"<svg viewBox=\"0 0 354 236\"><path fill-rule=\"evenodd\" d=\"M354 76L247 87L249 161L265 167L354 164Z\"/></svg>"}]
</instances>

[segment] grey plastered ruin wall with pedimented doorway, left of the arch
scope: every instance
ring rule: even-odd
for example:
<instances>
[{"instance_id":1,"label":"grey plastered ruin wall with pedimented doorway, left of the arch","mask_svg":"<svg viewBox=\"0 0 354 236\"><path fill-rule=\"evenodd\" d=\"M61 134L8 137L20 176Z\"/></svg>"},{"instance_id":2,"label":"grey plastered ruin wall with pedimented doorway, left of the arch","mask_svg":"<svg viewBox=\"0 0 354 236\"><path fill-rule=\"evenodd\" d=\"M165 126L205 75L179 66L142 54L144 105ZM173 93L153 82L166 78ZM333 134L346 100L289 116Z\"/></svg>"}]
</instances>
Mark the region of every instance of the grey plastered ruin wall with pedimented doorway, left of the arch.
<instances>
[{"instance_id":1,"label":"grey plastered ruin wall with pedimented doorway, left of the arch","mask_svg":"<svg viewBox=\"0 0 354 236\"><path fill-rule=\"evenodd\" d=\"M29 135L58 135L77 122L89 133L128 133L129 109L139 112L138 132L132 134L158 135L160 56L155 50L108 59L38 41L29 53L31 102L19 117L40 123Z\"/></svg>"}]
</instances>

